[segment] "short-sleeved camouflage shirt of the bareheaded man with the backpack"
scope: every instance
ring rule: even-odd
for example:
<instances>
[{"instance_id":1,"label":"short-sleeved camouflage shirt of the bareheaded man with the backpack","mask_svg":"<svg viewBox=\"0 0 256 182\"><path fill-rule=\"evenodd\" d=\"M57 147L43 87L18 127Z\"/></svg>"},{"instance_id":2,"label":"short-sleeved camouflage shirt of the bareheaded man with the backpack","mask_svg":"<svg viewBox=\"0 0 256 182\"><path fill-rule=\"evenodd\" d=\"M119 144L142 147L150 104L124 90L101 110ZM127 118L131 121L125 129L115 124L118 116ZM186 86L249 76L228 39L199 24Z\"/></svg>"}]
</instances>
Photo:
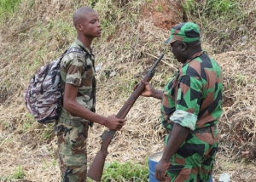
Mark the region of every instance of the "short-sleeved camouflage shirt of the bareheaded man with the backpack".
<instances>
[{"instance_id":1,"label":"short-sleeved camouflage shirt of the bareheaded man with the backpack","mask_svg":"<svg viewBox=\"0 0 256 182\"><path fill-rule=\"evenodd\" d=\"M71 44L70 48L73 47L80 48L84 54L71 52L62 58L61 81L79 87L76 100L88 110L95 111L95 56L78 39ZM72 116L63 107L61 108L61 117L68 120L81 120L80 117Z\"/></svg>"}]
</instances>

